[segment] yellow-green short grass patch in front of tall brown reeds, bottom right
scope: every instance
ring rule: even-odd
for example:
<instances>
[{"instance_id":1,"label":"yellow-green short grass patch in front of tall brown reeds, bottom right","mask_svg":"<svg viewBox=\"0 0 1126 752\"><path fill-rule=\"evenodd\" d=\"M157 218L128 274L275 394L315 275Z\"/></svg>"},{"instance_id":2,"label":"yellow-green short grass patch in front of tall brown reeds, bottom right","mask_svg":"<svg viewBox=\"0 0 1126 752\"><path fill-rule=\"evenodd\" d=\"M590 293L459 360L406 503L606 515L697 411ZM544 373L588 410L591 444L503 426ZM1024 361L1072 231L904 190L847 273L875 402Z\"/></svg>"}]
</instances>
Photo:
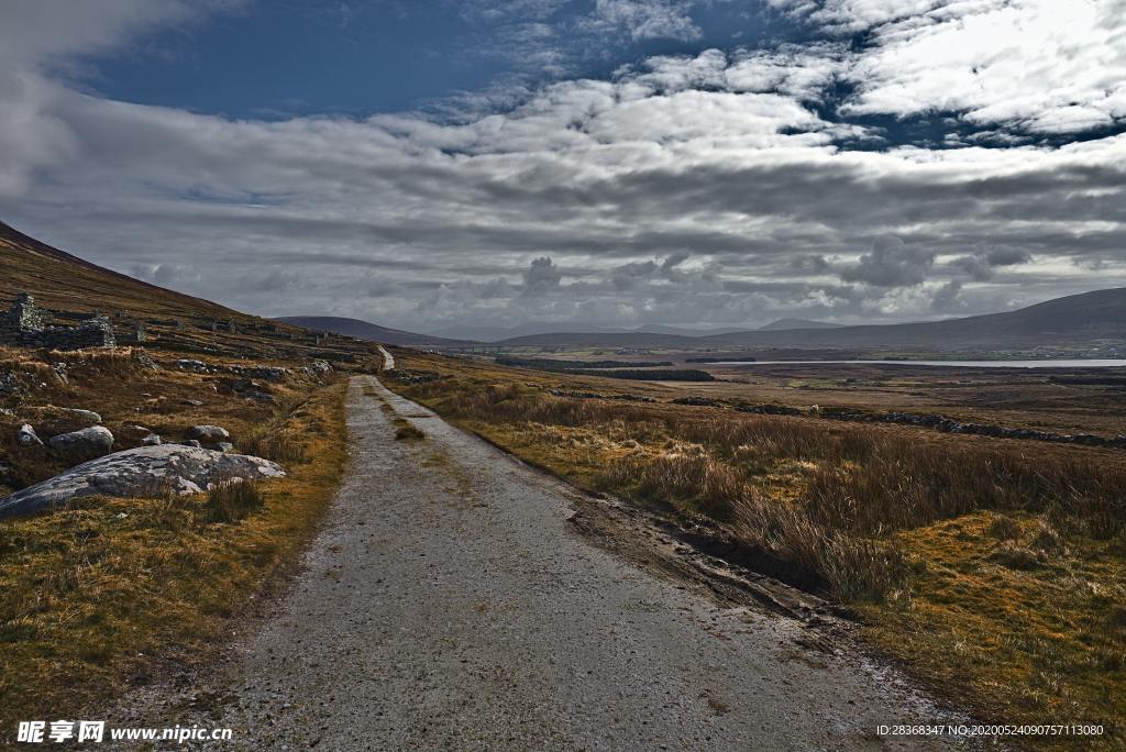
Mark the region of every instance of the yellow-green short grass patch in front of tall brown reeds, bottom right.
<instances>
[{"instance_id":1,"label":"yellow-green short grass patch in front of tall brown reeds, bottom right","mask_svg":"<svg viewBox=\"0 0 1126 752\"><path fill-rule=\"evenodd\" d=\"M865 636L985 717L1120 734L1126 537L1065 537L1043 514L1006 519L1019 532L1000 546L988 512L901 534L912 576L883 606L856 607Z\"/></svg>"}]
</instances>

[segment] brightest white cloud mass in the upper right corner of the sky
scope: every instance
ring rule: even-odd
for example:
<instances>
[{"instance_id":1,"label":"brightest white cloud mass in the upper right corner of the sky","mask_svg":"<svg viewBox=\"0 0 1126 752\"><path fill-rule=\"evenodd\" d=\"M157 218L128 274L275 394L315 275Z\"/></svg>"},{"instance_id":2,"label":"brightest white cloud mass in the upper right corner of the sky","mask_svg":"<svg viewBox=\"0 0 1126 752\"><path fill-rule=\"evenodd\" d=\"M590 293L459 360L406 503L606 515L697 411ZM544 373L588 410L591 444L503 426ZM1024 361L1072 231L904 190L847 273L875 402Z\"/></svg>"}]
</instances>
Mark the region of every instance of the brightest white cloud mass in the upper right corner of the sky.
<instances>
[{"instance_id":1,"label":"brightest white cloud mass in the upper right corner of the sky","mask_svg":"<svg viewBox=\"0 0 1126 752\"><path fill-rule=\"evenodd\" d=\"M843 75L856 115L960 113L976 126L1081 133L1126 119L1126 0L797 0L830 34L868 32Z\"/></svg>"}]
</instances>

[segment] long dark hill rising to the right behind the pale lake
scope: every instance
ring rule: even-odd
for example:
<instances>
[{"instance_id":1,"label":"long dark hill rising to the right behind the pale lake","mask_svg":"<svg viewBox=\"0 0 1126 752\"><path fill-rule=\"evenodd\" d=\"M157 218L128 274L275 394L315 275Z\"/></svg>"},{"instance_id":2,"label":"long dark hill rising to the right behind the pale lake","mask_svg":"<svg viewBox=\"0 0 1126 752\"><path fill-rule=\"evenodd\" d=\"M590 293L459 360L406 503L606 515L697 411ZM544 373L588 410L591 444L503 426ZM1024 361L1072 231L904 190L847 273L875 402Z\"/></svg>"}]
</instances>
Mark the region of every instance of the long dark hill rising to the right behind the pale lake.
<instances>
[{"instance_id":1,"label":"long dark hill rising to the right behind the pale lake","mask_svg":"<svg viewBox=\"0 0 1126 752\"><path fill-rule=\"evenodd\" d=\"M904 348L1003 350L1114 341L1126 343L1126 288L1103 289L1047 301L1019 311L908 324L763 329L677 337L671 334L561 333L499 342L519 346L604 346L618 348Z\"/></svg>"}]
</instances>

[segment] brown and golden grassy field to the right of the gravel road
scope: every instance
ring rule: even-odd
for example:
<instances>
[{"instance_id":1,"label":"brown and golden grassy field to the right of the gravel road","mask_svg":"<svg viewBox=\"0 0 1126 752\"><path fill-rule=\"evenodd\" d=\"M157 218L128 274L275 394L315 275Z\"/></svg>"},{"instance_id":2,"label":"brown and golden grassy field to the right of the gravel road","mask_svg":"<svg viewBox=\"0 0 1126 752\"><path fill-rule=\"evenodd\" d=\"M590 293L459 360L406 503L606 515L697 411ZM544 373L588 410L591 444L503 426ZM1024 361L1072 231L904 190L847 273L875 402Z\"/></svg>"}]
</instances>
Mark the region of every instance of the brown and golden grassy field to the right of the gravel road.
<instances>
[{"instance_id":1,"label":"brown and golden grassy field to the right of the gravel road","mask_svg":"<svg viewBox=\"0 0 1126 752\"><path fill-rule=\"evenodd\" d=\"M579 486L705 522L735 544L729 554L846 605L870 646L978 717L1126 718L1126 451L733 409L814 402L784 383L793 371L656 384L396 357L405 375L390 383L404 395ZM944 412L981 420L990 397L957 383L972 378L1022 400L1019 411L982 411L990 419L1087 431L1123 421L1118 397L1097 385L1074 386L1100 400L1092 426L1083 399L1056 399L1047 375L939 374L920 396L924 375L895 374L904 382L875 402L831 387L859 376L822 370L816 401L941 400ZM686 396L714 404L673 402Z\"/></svg>"}]
</instances>

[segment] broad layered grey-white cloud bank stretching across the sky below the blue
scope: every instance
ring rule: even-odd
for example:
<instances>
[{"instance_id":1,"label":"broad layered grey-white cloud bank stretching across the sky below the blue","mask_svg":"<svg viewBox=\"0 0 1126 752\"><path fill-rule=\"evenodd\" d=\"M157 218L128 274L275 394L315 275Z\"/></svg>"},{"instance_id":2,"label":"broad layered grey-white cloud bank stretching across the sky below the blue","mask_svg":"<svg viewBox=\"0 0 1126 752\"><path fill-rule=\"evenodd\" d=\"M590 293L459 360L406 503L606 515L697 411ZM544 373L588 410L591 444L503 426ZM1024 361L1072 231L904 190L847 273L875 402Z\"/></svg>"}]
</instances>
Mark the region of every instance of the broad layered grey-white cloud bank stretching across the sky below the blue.
<instances>
[{"instance_id":1,"label":"broad layered grey-white cloud bank stretching across the sky below the blue","mask_svg":"<svg viewBox=\"0 0 1126 752\"><path fill-rule=\"evenodd\" d=\"M1060 149L841 150L870 134L819 105L866 55L872 86L855 108L875 107L879 91L891 114L922 106L879 62L946 21L915 24L885 23L859 57L837 42L663 56L443 123L232 120L108 101L44 73L66 44L81 54L127 43L122 21L6 53L18 75L0 73L0 216L232 305L405 328L531 315L855 321L1126 284L1124 135ZM1040 88L1021 86L980 140L1027 120L1022 97ZM1088 106L1109 111L1069 105Z\"/></svg>"}]
</instances>

